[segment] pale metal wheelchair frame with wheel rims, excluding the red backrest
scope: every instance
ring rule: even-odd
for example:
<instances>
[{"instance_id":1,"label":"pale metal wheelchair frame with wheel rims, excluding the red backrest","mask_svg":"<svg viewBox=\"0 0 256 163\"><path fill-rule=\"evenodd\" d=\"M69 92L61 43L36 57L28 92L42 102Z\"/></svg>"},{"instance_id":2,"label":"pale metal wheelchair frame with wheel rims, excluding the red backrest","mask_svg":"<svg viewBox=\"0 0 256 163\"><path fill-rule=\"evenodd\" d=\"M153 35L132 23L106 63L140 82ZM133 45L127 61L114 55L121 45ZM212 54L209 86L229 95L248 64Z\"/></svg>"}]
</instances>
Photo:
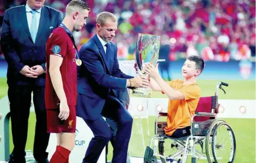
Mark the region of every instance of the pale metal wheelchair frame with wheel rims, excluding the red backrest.
<instances>
[{"instance_id":1,"label":"pale metal wheelchair frame with wheel rims, excluding the red backrest","mask_svg":"<svg viewBox=\"0 0 256 163\"><path fill-rule=\"evenodd\" d=\"M228 86L227 83L223 83L223 82L218 82L217 86L216 86L216 92L215 92L215 96L212 97L216 97L216 99L214 99L214 104L211 103L211 113L205 113L205 112L196 112L192 118L191 118L191 128L190 128L190 135L187 137L181 137L181 138L171 138L167 135L164 134L164 131L158 131L158 119L159 117L166 117L167 113L159 113L156 121L155 121L155 135L151 138L150 141L150 145L149 147L147 147L146 152L145 152L145 157L144 157L144 162L145 163L151 163L151 162L157 162L156 157L160 157L162 162L166 162L166 161L170 161L173 162L175 159L178 161L177 162L186 162L188 156L192 156L192 163L196 162L196 159L207 159L208 162L212 162L212 159L214 159L213 162L217 162L217 160L221 159L221 158L217 158L214 154L215 151L215 146L214 144L211 145L211 149L213 150L213 157L210 156L210 151L209 151L209 144L211 143L210 141L214 141L213 134L216 134L216 128L219 128L220 125L225 125L228 129L229 132L229 137L233 140L233 143L231 143L231 155L229 155L229 159L231 161L229 162L234 162L234 158L236 155L236 139L234 137L234 132L231 129L231 127L228 125L228 123L226 123L224 120L220 120L220 119L216 119L217 117L217 113L218 113L218 108L219 108L219 104L218 104L218 89L222 89L224 92L225 90L222 88L223 86ZM226 92L225 92L226 93ZM202 124L207 123L207 125L210 125L210 127L207 129L207 132L205 132L205 134L201 134L201 135L194 135L193 130L194 128L194 124L196 124L196 122L194 122L194 118L196 116L199 117L211 117L211 119L206 120L204 122L202 122ZM162 124L161 124L162 125ZM170 138L171 140L174 141L176 145L176 148L178 149L177 146L181 147L181 150L179 149L177 152L173 153L170 156L164 156L164 139L166 138ZM195 145L196 144L200 144L202 151L203 151L203 140L205 139L205 150L206 152L199 152L198 150L196 150ZM153 149L151 149L152 144L154 144ZM173 145L173 144L172 144ZM159 150L159 154L157 153L157 146L158 146L158 150ZM214 146L214 147L213 147ZM221 147L221 145L219 145ZM206 154L206 156L204 154Z\"/></svg>"}]
</instances>

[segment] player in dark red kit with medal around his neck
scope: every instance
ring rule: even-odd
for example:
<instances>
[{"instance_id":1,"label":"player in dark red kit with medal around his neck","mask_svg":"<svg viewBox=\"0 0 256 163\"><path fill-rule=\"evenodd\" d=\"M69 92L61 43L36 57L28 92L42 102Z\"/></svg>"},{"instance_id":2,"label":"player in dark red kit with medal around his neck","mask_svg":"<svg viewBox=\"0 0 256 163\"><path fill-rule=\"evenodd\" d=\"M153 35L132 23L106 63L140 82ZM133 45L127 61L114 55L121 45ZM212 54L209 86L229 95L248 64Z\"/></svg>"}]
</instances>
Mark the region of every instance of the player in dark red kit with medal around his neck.
<instances>
[{"instance_id":1,"label":"player in dark red kit with medal around his neck","mask_svg":"<svg viewBox=\"0 0 256 163\"><path fill-rule=\"evenodd\" d=\"M79 57L72 32L86 25L90 7L73 0L65 17L46 42L45 105L47 132L56 133L57 147L49 163L68 163L75 146L77 67Z\"/></svg>"}]
</instances>

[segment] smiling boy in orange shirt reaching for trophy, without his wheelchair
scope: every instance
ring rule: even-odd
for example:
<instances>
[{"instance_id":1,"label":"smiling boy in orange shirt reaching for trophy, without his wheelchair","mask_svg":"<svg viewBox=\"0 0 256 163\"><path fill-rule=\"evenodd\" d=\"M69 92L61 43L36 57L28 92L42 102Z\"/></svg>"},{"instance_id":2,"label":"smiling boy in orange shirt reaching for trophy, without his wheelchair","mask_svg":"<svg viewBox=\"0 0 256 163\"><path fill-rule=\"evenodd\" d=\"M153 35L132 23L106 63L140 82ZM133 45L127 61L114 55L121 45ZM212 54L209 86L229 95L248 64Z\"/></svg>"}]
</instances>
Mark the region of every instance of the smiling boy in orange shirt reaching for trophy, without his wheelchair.
<instances>
[{"instance_id":1,"label":"smiling boy in orange shirt reaching for trophy, without his wheelchair","mask_svg":"<svg viewBox=\"0 0 256 163\"><path fill-rule=\"evenodd\" d=\"M145 72L154 79L150 81L151 89L161 91L169 98L167 126L164 128L166 135L173 138L190 135L190 120L195 114L201 93L196 78L204 70L204 65L200 56L190 56L181 68L184 80L165 82L158 68L145 64Z\"/></svg>"}]
</instances>

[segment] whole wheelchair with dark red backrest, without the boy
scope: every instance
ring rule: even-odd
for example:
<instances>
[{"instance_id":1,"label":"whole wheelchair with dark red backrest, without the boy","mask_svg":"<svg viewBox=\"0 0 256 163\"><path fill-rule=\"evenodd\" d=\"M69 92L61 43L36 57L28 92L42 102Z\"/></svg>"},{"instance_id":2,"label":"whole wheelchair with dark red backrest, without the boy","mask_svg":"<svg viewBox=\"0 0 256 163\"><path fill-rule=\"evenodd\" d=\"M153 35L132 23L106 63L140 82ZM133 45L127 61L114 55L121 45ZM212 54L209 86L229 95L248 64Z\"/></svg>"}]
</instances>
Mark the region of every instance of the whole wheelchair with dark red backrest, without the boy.
<instances>
[{"instance_id":1,"label":"whole wheelchair with dark red backrest, without the boy","mask_svg":"<svg viewBox=\"0 0 256 163\"><path fill-rule=\"evenodd\" d=\"M236 138L231 127L224 120L217 119L218 90L228 83L218 82L214 96L201 97L196 112L191 118L190 135L172 138L164 134L167 113L159 113L155 120L155 135L146 147L144 163L186 162L190 159L205 159L210 163L234 162ZM152 148L151 148L152 147ZM205 149L205 150L204 150ZM200 152L201 150L201 152Z\"/></svg>"}]
</instances>

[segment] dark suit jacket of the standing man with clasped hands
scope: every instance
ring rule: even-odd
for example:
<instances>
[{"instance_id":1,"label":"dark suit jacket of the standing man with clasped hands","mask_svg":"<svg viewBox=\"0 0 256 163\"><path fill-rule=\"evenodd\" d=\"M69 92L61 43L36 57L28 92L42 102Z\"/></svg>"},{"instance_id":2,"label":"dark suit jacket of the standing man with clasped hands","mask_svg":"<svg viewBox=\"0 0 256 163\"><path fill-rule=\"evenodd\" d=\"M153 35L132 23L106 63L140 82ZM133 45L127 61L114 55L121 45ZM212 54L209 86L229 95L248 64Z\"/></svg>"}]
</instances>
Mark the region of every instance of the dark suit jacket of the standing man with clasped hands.
<instances>
[{"instance_id":1,"label":"dark suit jacket of the standing man with clasped hands","mask_svg":"<svg viewBox=\"0 0 256 163\"><path fill-rule=\"evenodd\" d=\"M45 44L51 32L60 25L61 21L62 14L60 11L43 6L36 43L33 43L28 28L25 5L5 11L0 44L8 63L8 84L28 85L35 83L37 86L45 86L45 74L33 79L23 76L19 71L25 65L29 67L42 65L45 69Z\"/></svg>"}]
</instances>

